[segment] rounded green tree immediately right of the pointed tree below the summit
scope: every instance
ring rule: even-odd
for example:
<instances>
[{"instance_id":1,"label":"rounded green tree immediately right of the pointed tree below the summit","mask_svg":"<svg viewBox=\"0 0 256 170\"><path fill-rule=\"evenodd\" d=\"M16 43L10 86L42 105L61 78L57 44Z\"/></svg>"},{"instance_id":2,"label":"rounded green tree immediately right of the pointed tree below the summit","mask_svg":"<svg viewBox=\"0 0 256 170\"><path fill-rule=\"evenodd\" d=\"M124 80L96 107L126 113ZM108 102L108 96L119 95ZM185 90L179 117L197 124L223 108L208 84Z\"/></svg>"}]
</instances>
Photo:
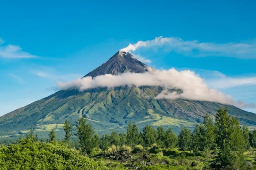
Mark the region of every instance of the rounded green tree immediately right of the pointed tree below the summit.
<instances>
[{"instance_id":1,"label":"rounded green tree immediately right of the pointed tree below the summit","mask_svg":"<svg viewBox=\"0 0 256 170\"><path fill-rule=\"evenodd\" d=\"M142 138L146 146L151 146L156 143L157 137L158 134L152 126L146 125L143 128Z\"/></svg>"}]
</instances>

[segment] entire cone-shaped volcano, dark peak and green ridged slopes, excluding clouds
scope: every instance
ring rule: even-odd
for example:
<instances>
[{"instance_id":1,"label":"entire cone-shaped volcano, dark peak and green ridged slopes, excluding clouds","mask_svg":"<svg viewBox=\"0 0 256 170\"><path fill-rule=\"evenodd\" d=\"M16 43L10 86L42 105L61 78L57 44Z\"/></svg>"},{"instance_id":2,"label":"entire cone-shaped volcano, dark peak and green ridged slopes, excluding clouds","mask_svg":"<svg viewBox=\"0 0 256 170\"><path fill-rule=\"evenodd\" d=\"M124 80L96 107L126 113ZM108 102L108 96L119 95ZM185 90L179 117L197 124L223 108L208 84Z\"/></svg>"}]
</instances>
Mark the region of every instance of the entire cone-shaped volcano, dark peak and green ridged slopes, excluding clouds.
<instances>
[{"instance_id":1,"label":"entire cone-shaped volcano, dark peak and green ridged slopes, excluding clouds","mask_svg":"<svg viewBox=\"0 0 256 170\"><path fill-rule=\"evenodd\" d=\"M86 74L92 78L104 74L147 72L146 64L127 52L118 51L107 62ZM172 126L175 133L187 126L191 129L202 122L204 115L214 117L225 105L186 99L154 99L164 89L161 86L94 88L80 92L77 89L60 90L44 99L14 110L0 117L0 137L17 138L33 126L35 134L45 138L51 129L57 137L64 137L62 128L66 119L73 126L79 117L88 122L100 135L125 131L129 121L142 130L145 125ZM169 89L182 93L181 89ZM228 114L236 116L242 125L254 128L256 114L228 105Z\"/></svg>"}]
</instances>

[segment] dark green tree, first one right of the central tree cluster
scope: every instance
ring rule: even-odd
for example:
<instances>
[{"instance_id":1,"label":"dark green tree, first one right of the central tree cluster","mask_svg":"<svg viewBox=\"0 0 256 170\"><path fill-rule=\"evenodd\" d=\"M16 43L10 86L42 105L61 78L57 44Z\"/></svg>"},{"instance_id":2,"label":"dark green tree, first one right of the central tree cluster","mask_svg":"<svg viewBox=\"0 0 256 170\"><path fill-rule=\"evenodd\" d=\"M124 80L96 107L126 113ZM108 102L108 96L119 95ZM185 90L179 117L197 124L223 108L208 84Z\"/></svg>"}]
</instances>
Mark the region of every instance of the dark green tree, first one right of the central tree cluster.
<instances>
[{"instance_id":1,"label":"dark green tree, first one right of the central tree cluster","mask_svg":"<svg viewBox=\"0 0 256 170\"><path fill-rule=\"evenodd\" d=\"M184 126L184 128L181 129L178 137L178 144L180 149L183 151L187 151L191 147L191 142L191 130Z\"/></svg>"}]
</instances>

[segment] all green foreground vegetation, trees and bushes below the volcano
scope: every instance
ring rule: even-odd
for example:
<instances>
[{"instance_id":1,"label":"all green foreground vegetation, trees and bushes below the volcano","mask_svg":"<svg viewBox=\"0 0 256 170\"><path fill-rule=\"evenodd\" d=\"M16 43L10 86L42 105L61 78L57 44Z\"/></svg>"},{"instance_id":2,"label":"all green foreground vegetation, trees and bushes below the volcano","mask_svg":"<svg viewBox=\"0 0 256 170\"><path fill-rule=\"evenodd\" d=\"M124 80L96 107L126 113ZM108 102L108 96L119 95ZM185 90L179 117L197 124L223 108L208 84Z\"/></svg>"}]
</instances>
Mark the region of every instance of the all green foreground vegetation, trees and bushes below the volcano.
<instances>
[{"instance_id":1,"label":"all green foreground vegetation, trees and bushes below the volcano","mask_svg":"<svg viewBox=\"0 0 256 170\"><path fill-rule=\"evenodd\" d=\"M126 133L115 130L101 138L86 119L76 122L78 144L70 140L73 127L66 120L64 141L54 130L48 142L38 141L31 128L26 138L0 147L0 169L255 169L256 130L240 127L228 108L220 108L215 123L206 114L193 132L184 127L146 125L139 132L129 123ZM90 158L89 158L90 157Z\"/></svg>"}]
</instances>

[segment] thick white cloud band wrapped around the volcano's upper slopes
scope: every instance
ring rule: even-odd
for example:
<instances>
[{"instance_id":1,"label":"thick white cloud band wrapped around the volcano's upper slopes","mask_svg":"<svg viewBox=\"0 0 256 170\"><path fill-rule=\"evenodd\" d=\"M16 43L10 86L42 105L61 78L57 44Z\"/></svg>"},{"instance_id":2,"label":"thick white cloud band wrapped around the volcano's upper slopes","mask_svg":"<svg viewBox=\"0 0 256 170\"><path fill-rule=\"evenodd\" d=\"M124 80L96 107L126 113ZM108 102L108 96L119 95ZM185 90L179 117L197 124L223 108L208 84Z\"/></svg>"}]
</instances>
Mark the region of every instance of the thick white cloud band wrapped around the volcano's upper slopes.
<instances>
[{"instance_id":1,"label":"thick white cloud band wrapped around the volcano's upper slopes","mask_svg":"<svg viewBox=\"0 0 256 170\"><path fill-rule=\"evenodd\" d=\"M58 83L62 89L71 87L80 91L98 87L118 87L118 86L162 86L167 89L182 89L182 93L168 93L164 90L156 96L156 99L177 99L185 98L189 100L212 101L223 104L235 104L231 96L224 95L215 89L210 89L204 79L200 78L193 71L175 69L154 70L148 68L146 73L123 73L120 75L105 74L95 78L84 77L67 83Z\"/></svg>"}]
</instances>

